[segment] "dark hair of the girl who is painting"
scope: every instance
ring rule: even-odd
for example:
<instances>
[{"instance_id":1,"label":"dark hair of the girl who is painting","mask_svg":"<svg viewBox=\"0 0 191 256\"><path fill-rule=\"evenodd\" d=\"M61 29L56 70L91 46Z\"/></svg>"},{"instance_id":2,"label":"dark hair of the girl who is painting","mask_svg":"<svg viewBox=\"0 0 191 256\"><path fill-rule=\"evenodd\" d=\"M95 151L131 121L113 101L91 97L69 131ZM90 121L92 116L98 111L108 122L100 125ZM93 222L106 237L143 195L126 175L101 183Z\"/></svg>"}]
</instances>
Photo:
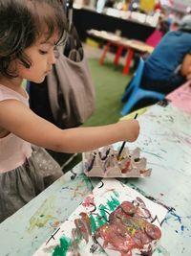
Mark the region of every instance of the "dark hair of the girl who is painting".
<instances>
[{"instance_id":1,"label":"dark hair of the girl who is painting","mask_svg":"<svg viewBox=\"0 0 191 256\"><path fill-rule=\"evenodd\" d=\"M32 60L24 50L42 35L48 40L57 33L60 41L66 27L59 0L0 0L0 75L16 77L9 70L15 58L30 68Z\"/></svg>"}]
</instances>

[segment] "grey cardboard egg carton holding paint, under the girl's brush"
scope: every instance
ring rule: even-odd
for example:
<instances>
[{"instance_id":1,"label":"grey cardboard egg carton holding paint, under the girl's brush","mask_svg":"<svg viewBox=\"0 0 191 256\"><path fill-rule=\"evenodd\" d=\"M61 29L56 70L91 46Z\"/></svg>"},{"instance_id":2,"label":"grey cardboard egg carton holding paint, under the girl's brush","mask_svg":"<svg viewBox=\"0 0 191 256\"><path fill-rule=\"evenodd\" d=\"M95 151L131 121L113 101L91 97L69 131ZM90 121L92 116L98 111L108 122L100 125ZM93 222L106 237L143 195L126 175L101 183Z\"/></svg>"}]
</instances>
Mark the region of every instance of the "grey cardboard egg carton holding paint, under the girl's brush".
<instances>
[{"instance_id":1,"label":"grey cardboard egg carton holding paint, under the girl's brush","mask_svg":"<svg viewBox=\"0 0 191 256\"><path fill-rule=\"evenodd\" d=\"M140 157L140 149L118 151L113 146L100 148L96 151L83 153L83 169L87 176L97 177L145 177L151 175L146 168L147 160Z\"/></svg>"}]
</instances>

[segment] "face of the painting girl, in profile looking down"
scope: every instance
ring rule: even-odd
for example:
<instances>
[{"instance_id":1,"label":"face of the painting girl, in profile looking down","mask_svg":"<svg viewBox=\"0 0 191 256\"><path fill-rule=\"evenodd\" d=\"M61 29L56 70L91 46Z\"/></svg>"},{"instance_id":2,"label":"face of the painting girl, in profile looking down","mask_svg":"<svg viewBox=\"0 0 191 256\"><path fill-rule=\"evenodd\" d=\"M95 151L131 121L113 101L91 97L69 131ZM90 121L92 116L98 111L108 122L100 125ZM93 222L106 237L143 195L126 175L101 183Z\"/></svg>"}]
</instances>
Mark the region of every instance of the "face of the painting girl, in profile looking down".
<instances>
[{"instance_id":1,"label":"face of the painting girl, in profile looking down","mask_svg":"<svg viewBox=\"0 0 191 256\"><path fill-rule=\"evenodd\" d=\"M53 35L48 41L45 41L45 37L43 36L35 44L27 48L24 52L32 60L32 65L30 68L26 68L16 59L15 68L18 77L37 83L44 81L55 63L54 50L56 41L56 35Z\"/></svg>"}]
</instances>

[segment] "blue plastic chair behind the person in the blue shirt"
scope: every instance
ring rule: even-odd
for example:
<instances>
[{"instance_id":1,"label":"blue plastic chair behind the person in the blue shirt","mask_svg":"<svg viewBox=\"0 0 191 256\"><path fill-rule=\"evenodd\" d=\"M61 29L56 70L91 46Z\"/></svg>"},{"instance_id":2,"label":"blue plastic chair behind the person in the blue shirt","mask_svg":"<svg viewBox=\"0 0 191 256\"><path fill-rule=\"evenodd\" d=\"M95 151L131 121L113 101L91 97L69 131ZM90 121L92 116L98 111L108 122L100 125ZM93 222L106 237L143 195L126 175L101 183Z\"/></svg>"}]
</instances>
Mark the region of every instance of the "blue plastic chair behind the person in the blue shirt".
<instances>
[{"instance_id":1,"label":"blue plastic chair behind the person in the blue shirt","mask_svg":"<svg viewBox=\"0 0 191 256\"><path fill-rule=\"evenodd\" d=\"M151 99L156 99L158 101L161 101L165 97L164 94L159 93L157 91L146 90L139 87L143 70L144 70L144 60L142 58L139 58L138 69L134 75L133 80L126 88L121 99L122 102L126 102L121 110L121 115L123 116L128 114L131 108L134 105L136 105L139 100L151 98Z\"/></svg>"}]
</instances>

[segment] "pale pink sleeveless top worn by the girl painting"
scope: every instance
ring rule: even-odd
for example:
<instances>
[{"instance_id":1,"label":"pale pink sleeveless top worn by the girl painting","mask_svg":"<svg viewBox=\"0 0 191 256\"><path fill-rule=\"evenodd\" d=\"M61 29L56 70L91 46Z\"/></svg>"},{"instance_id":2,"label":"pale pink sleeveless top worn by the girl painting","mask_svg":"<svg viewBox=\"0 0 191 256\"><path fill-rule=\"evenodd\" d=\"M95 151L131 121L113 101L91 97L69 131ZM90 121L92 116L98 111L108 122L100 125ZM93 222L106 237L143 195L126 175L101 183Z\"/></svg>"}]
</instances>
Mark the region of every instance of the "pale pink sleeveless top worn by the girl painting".
<instances>
[{"instance_id":1,"label":"pale pink sleeveless top worn by the girl painting","mask_svg":"<svg viewBox=\"0 0 191 256\"><path fill-rule=\"evenodd\" d=\"M14 99L29 106L29 96L26 97L0 84L0 102ZM10 133L0 138L0 173L5 173L24 164L26 158L32 155L32 147L29 142Z\"/></svg>"}]
</instances>

